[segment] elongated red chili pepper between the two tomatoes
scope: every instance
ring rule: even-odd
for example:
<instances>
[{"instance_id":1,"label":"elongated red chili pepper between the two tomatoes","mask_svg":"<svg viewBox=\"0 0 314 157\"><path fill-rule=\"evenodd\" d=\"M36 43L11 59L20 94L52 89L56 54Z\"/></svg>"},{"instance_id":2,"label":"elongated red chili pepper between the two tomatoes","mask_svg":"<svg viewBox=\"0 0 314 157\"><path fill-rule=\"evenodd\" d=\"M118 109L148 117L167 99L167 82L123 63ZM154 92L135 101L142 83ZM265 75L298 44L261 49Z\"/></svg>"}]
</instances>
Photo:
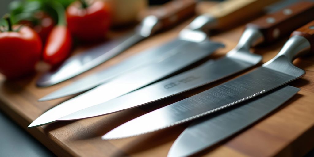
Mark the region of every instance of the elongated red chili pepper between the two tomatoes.
<instances>
[{"instance_id":1,"label":"elongated red chili pepper between the two tomatoes","mask_svg":"<svg viewBox=\"0 0 314 157\"><path fill-rule=\"evenodd\" d=\"M52 66L63 62L69 55L72 38L67 26L56 25L50 32L43 52L43 60Z\"/></svg>"}]
</instances>

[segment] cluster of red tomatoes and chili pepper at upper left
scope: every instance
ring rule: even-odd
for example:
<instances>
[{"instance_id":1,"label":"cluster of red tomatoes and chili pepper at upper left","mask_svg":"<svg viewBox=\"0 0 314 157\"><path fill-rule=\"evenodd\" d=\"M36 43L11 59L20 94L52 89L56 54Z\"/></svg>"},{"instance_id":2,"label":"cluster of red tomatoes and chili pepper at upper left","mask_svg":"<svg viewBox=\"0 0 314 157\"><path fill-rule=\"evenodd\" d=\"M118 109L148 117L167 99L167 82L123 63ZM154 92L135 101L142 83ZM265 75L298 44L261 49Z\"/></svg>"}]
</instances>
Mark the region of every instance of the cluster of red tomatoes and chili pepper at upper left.
<instances>
[{"instance_id":1,"label":"cluster of red tomatoes and chili pepper at upper left","mask_svg":"<svg viewBox=\"0 0 314 157\"><path fill-rule=\"evenodd\" d=\"M0 73L6 78L18 78L35 71L35 64L43 60L51 66L62 63L70 54L73 37L80 41L95 41L105 37L111 25L110 7L103 1L86 3L74 1L66 10L57 1L49 1L57 13L57 20L37 11L36 21L21 19L0 27Z\"/></svg>"}]
</instances>

